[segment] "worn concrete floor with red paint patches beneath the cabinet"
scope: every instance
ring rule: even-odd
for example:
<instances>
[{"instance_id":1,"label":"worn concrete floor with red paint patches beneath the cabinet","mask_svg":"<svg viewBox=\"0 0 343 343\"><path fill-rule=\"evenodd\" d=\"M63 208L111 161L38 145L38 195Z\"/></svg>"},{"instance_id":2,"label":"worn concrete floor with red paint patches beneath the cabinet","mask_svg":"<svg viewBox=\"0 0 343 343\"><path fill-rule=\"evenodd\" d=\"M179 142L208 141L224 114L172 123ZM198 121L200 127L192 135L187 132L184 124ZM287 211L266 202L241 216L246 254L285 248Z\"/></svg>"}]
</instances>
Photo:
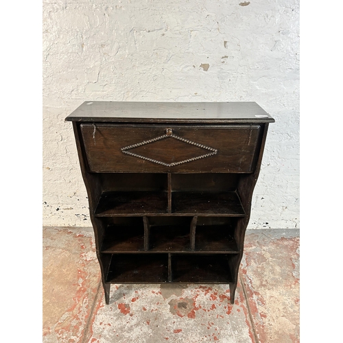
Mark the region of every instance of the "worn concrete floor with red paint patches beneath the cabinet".
<instances>
[{"instance_id":1,"label":"worn concrete floor with red paint patches beneath the cabinet","mask_svg":"<svg viewBox=\"0 0 343 343\"><path fill-rule=\"evenodd\" d=\"M112 285L91 228L43 228L43 342L299 342L299 231L250 230L228 285Z\"/></svg>"}]
</instances>

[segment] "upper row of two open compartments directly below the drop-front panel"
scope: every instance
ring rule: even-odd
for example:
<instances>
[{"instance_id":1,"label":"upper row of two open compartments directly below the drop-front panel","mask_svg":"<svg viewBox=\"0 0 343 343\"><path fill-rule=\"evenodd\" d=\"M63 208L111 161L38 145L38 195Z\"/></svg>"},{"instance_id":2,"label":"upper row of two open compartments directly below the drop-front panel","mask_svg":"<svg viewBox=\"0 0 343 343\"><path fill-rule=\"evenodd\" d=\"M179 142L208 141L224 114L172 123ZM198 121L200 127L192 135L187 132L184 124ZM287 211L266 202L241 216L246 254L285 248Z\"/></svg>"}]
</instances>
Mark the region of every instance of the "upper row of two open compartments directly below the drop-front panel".
<instances>
[{"instance_id":1,"label":"upper row of two open compartments directly below the drop-front panel","mask_svg":"<svg viewBox=\"0 0 343 343\"><path fill-rule=\"evenodd\" d=\"M246 215L237 174L98 174L96 217L125 215Z\"/></svg>"}]
</instances>

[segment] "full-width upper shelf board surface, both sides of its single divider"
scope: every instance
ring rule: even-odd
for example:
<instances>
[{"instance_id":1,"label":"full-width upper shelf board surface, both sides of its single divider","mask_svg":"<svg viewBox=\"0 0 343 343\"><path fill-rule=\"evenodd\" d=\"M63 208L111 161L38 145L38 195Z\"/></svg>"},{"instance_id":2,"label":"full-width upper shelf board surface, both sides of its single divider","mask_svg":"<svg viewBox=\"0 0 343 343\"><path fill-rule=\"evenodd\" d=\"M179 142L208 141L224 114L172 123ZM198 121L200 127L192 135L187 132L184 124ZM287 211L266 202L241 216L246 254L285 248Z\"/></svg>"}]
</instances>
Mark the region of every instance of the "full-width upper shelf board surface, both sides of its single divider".
<instances>
[{"instance_id":1,"label":"full-width upper shelf board surface, both sides of its single divider","mask_svg":"<svg viewBox=\"0 0 343 343\"><path fill-rule=\"evenodd\" d=\"M95 209L96 217L143 215L244 217L246 214L235 191L174 191L171 213L168 213L167 191L105 191Z\"/></svg>"}]
</instances>

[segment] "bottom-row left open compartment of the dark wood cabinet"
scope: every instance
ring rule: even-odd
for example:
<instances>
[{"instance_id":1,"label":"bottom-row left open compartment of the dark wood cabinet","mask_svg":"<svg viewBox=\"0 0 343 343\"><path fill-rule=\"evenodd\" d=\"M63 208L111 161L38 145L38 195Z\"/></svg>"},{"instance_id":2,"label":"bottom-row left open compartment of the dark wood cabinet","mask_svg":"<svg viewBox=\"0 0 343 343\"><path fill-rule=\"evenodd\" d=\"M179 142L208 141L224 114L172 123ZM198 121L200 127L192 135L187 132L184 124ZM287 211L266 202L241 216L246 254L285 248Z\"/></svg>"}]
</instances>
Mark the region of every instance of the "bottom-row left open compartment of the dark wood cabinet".
<instances>
[{"instance_id":1,"label":"bottom-row left open compartment of the dark wood cabinet","mask_svg":"<svg viewBox=\"0 0 343 343\"><path fill-rule=\"evenodd\" d=\"M106 283L165 283L167 254L114 254Z\"/></svg>"}]
</instances>

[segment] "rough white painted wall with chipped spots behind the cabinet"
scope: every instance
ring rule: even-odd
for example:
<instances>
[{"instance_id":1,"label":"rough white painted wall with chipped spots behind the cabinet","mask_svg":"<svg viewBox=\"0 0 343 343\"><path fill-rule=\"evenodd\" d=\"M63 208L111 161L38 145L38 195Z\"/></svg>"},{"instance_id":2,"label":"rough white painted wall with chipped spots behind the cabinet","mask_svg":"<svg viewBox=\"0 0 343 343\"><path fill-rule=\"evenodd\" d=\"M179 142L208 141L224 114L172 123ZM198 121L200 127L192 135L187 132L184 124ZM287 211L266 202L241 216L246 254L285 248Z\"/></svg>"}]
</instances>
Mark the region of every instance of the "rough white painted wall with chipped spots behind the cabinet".
<instances>
[{"instance_id":1,"label":"rough white painted wall with chipped spots behind the cabinet","mask_svg":"<svg viewBox=\"0 0 343 343\"><path fill-rule=\"evenodd\" d=\"M64 118L113 100L257 102L276 123L248 228L299 227L298 1L45 0L43 43L45 226L91 226Z\"/></svg>"}]
</instances>

